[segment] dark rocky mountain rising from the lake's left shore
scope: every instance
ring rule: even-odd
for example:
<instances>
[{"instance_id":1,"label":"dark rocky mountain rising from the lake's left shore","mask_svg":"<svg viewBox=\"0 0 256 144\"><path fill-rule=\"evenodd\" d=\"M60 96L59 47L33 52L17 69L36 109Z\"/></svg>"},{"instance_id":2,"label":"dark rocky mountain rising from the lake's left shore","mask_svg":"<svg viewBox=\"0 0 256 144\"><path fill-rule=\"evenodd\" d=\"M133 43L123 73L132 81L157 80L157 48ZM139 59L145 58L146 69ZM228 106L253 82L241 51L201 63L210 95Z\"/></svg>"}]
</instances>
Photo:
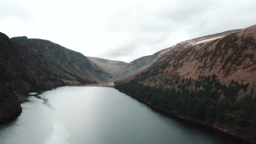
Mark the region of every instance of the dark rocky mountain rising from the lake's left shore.
<instances>
[{"instance_id":1,"label":"dark rocky mountain rising from the lake's left shore","mask_svg":"<svg viewBox=\"0 0 256 144\"><path fill-rule=\"evenodd\" d=\"M29 91L107 82L108 72L83 54L49 40L0 33L0 123L21 112Z\"/></svg>"}]
</instances>

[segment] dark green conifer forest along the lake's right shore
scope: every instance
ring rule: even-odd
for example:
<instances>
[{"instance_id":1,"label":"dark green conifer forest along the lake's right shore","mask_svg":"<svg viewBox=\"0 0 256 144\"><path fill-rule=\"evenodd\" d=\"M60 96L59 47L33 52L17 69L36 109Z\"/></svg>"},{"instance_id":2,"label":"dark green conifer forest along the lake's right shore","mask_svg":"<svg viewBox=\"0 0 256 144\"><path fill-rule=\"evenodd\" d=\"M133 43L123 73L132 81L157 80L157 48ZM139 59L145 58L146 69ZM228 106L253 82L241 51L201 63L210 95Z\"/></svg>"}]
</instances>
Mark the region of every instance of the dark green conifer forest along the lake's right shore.
<instances>
[{"instance_id":1,"label":"dark green conifer forest along the lake's right shore","mask_svg":"<svg viewBox=\"0 0 256 144\"><path fill-rule=\"evenodd\" d=\"M214 74L195 80L173 73L157 80L157 75L163 75L168 66L163 64L142 72L115 88L173 115L227 128L256 140L255 89L248 88L249 83L232 81L228 86L222 85ZM148 83L155 85L152 87Z\"/></svg>"}]
</instances>

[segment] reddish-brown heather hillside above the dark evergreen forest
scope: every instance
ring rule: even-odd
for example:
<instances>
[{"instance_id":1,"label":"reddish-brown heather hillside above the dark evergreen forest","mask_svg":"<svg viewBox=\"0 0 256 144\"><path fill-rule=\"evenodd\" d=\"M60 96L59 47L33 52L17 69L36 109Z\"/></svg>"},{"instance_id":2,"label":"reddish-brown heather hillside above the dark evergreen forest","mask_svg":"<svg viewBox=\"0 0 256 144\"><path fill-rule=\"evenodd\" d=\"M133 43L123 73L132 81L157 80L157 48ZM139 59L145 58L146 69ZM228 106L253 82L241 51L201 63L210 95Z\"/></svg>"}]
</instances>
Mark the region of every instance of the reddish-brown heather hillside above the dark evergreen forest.
<instances>
[{"instance_id":1,"label":"reddish-brown heather hillside above the dark evergreen forest","mask_svg":"<svg viewBox=\"0 0 256 144\"><path fill-rule=\"evenodd\" d=\"M178 72L181 78L215 74L224 85L231 80L252 84L256 80L256 25L173 45L158 52L147 69L165 62L170 64L165 71ZM135 75L117 82L131 80Z\"/></svg>"}]
</instances>

